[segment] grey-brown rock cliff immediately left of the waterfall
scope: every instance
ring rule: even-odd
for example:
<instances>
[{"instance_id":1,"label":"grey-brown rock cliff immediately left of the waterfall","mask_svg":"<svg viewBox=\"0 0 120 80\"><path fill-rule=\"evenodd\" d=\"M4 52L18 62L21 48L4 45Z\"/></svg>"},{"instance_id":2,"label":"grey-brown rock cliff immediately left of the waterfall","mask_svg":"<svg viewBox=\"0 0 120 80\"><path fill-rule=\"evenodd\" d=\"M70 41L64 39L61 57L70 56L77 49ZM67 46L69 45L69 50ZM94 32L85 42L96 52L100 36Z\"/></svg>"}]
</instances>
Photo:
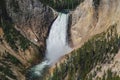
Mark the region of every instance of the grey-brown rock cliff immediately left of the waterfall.
<instances>
[{"instance_id":1,"label":"grey-brown rock cliff immediately left of the waterfall","mask_svg":"<svg viewBox=\"0 0 120 80\"><path fill-rule=\"evenodd\" d=\"M39 0L6 0L6 11L25 37L44 45L56 12Z\"/></svg>"}]
</instances>

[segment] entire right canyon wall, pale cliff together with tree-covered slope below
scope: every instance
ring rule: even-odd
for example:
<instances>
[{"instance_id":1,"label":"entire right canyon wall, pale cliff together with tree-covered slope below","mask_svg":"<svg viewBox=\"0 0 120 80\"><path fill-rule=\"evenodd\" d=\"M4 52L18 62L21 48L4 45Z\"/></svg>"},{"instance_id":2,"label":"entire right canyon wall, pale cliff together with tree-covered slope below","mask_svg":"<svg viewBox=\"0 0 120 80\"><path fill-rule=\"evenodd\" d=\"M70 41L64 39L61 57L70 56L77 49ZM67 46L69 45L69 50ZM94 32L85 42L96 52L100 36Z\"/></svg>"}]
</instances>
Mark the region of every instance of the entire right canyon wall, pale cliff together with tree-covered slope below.
<instances>
[{"instance_id":1,"label":"entire right canyon wall, pale cliff together with tree-covered slope below","mask_svg":"<svg viewBox=\"0 0 120 80\"><path fill-rule=\"evenodd\" d=\"M50 69L47 80L120 79L119 7L119 0L84 0L71 11L68 35L73 52ZM101 72L96 71L98 66Z\"/></svg>"}]
</instances>

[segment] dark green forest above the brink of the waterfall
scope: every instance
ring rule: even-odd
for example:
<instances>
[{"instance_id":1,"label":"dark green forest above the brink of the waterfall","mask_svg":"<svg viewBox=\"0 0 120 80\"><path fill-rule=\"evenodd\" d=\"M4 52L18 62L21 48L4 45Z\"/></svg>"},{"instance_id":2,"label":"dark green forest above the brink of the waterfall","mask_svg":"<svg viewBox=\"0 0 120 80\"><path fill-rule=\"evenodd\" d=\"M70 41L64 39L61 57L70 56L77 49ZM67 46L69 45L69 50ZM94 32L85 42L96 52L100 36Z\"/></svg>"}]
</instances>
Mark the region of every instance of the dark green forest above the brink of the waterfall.
<instances>
[{"instance_id":1,"label":"dark green forest above the brink of the waterfall","mask_svg":"<svg viewBox=\"0 0 120 80\"><path fill-rule=\"evenodd\" d=\"M43 4L47 4L57 11L63 9L74 9L84 0L40 0Z\"/></svg>"}]
</instances>

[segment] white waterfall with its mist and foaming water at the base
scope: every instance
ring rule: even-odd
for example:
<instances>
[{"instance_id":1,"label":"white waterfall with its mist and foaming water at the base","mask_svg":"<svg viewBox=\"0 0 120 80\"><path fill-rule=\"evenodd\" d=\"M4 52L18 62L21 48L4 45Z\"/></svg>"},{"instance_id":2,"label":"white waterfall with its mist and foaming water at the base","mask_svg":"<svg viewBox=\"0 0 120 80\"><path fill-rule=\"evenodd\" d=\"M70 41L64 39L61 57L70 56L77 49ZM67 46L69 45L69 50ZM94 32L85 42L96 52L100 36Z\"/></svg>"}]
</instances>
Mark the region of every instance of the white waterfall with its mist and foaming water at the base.
<instances>
[{"instance_id":1,"label":"white waterfall with its mist and foaming water at the base","mask_svg":"<svg viewBox=\"0 0 120 80\"><path fill-rule=\"evenodd\" d=\"M58 59L70 51L67 44L67 28L69 14L59 13L59 16L53 23L47 43L45 61L32 68L34 74L41 76L46 66L55 64Z\"/></svg>"}]
</instances>

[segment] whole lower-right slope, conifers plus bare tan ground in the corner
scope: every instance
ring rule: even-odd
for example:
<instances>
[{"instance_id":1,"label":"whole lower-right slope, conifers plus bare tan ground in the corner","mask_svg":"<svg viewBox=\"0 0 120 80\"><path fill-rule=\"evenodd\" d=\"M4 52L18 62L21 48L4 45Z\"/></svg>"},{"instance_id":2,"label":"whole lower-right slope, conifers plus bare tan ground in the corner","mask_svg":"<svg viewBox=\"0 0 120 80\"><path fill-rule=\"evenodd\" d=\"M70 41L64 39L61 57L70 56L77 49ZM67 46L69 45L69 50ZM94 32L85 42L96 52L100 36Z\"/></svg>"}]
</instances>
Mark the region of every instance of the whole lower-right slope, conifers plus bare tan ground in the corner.
<instances>
[{"instance_id":1,"label":"whole lower-right slope, conifers plus bare tan ground in the corner","mask_svg":"<svg viewBox=\"0 0 120 80\"><path fill-rule=\"evenodd\" d=\"M116 24L111 25L66 55L53 67L46 80L119 80L120 37L116 27Z\"/></svg>"}]
</instances>

